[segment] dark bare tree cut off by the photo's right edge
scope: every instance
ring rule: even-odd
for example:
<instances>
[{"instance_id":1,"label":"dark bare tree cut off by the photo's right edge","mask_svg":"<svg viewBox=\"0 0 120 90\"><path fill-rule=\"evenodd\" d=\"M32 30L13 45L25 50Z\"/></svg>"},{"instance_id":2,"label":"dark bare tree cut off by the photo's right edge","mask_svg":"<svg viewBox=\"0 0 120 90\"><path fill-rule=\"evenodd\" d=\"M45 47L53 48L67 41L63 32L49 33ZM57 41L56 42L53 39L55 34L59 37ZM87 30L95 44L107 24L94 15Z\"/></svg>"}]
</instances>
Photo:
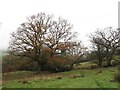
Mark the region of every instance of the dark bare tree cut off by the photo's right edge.
<instances>
[{"instance_id":1,"label":"dark bare tree cut off by the photo's right edge","mask_svg":"<svg viewBox=\"0 0 120 90\"><path fill-rule=\"evenodd\" d=\"M120 29L114 30L112 27L109 27L96 31L92 36L92 40L94 41L92 43L97 47L97 52L100 51L101 47L104 52L103 55L105 55L105 59L107 60L107 66L111 66L113 55L120 47ZM98 55L101 55L100 52Z\"/></svg>"}]
</instances>

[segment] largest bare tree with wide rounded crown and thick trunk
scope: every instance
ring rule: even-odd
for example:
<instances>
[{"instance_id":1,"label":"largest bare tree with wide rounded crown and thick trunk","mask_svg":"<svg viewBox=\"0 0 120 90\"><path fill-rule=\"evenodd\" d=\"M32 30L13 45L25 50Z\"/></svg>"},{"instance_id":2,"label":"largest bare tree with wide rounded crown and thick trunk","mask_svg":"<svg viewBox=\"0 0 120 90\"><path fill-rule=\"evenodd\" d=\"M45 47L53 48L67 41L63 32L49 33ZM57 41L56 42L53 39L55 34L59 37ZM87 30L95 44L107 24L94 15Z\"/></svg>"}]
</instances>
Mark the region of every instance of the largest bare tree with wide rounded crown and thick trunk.
<instances>
[{"instance_id":1,"label":"largest bare tree with wide rounded crown and thick trunk","mask_svg":"<svg viewBox=\"0 0 120 90\"><path fill-rule=\"evenodd\" d=\"M54 21L45 13L33 15L12 33L10 53L36 61L39 71L43 71L50 58L57 57L57 60L74 47L70 42L76 35L71 30L72 25L62 18Z\"/></svg>"}]
</instances>

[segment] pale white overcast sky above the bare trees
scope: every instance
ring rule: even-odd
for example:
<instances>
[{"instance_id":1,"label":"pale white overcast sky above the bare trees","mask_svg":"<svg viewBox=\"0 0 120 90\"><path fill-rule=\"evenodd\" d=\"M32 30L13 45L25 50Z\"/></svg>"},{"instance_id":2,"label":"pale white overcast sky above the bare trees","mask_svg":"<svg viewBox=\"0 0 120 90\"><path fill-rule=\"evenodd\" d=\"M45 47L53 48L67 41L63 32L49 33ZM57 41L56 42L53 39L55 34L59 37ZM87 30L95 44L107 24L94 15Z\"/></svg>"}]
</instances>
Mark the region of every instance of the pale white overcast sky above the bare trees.
<instances>
[{"instance_id":1,"label":"pale white overcast sky above the bare trees","mask_svg":"<svg viewBox=\"0 0 120 90\"><path fill-rule=\"evenodd\" d=\"M0 0L0 49L7 48L10 33L27 16L45 12L73 24L78 38L88 46L89 33L97 28L118 27L119 0Z\"/></svg>"}]
</instances>

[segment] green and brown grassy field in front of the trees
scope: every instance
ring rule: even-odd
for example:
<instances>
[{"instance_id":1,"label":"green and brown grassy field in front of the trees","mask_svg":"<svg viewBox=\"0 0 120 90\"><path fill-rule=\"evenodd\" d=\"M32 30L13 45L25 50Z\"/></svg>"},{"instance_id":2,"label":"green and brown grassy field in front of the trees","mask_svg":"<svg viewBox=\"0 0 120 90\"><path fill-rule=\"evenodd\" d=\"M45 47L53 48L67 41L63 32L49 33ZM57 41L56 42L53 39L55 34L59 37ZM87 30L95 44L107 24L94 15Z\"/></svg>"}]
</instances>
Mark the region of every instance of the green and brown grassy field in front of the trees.
<instances>
[{"instance_id":1,"label":"green and brown grassy field in front of the trees","mask_svg":"<svg viewBox=\"0 0 120 90\"><path fill-rule=\"evenodd\" d=\"M5 73L3 88L118 88L118 82L113 81L116 70L117 67L37 75L28 71Z\"/></svg>"}]
</instances>

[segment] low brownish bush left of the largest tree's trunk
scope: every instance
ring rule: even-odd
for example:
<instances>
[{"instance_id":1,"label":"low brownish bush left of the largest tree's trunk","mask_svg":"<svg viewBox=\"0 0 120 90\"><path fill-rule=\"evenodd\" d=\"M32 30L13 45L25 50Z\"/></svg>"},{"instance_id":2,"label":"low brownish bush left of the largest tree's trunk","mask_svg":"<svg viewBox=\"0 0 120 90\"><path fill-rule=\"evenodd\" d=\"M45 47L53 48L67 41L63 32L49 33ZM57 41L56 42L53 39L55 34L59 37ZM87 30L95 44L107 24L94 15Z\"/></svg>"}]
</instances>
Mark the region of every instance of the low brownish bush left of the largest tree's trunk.
<instances>
[{"instance_id":1,"label":"low brownish bush left of the largest tree's trunk","mask_svg":"<svg viewBox=\"0 0 120 90\"><path fill-rule=\"evenodd\" d=\"M13 55L6 55L2 61L2 72L13 71L35 71L38 65L35 62L30 62L28 58L21 58Z\"/></svg>"}]
</instances>

